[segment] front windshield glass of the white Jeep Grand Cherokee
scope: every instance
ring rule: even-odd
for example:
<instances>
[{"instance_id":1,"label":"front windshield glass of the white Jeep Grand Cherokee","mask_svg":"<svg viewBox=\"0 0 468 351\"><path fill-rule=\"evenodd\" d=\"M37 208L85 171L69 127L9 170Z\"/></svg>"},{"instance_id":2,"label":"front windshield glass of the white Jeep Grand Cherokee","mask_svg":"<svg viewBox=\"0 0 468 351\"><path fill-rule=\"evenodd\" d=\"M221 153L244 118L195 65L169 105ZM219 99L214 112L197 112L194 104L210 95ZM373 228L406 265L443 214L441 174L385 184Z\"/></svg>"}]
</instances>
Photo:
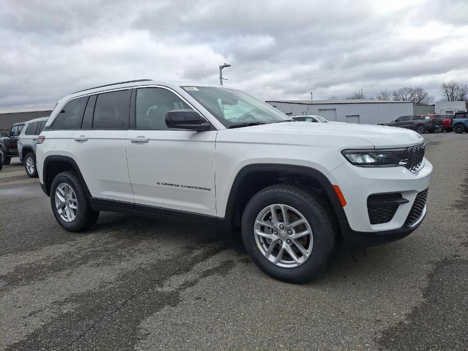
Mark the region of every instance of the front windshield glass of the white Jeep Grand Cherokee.
<instances>
[{"instance_id":1,"label":"front windshield glass of the white Jeep Grand Cherokee","mask_svg":"<svg viewBox=\"0 0 468 351\"><path fill-rule=\"evenodd\" d=\"M227 128L239 123L276 123L291 119L267 103L235 89L215 86L181 87Z\"/></svg>"}]
</instances>

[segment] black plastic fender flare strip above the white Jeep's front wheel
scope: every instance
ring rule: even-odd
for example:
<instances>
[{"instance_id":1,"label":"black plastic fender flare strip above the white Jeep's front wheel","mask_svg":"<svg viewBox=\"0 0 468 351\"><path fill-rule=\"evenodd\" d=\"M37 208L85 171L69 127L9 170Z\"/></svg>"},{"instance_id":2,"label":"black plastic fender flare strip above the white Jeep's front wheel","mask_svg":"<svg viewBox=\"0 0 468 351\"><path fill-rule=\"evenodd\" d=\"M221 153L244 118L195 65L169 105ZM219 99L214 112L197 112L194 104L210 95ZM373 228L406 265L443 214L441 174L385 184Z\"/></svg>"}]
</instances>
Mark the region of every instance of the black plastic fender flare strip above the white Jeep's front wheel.
<instances>
[{"instance_id":1,"label":"black plastic fender flare strip above the white Jeep's front wheel","mask_svg":"<svg viewBox=\"0 0 468 351\"><path fill-rule=\"evenodd\" d=\"M226 213L223 219L225 225L232 225L233 223L233 210L234 205L236 203L237 193L239 192L240 185L242 180L247 176L247 174L257 171L272 171L272 172L284 172L284 173L294 173L300 174L301 176L308 176L315 179L320 186L323 188L325 194L327 195L330 203L336 213L336 217L340 224L342 222L348 223L348 219L346 217L345 210L341 205L341 202L336 195L335 190L333 189L332 184L328 180L328 178L323 174L321 171L307 167L307 166L299 166L299 165L291 165L291 164L277 164L277 163L254 163L244 166L239 172L236 174L236 178L231 186L231 191L229 193L228 202L226 204Z\"/></svg>"}]
</instances>

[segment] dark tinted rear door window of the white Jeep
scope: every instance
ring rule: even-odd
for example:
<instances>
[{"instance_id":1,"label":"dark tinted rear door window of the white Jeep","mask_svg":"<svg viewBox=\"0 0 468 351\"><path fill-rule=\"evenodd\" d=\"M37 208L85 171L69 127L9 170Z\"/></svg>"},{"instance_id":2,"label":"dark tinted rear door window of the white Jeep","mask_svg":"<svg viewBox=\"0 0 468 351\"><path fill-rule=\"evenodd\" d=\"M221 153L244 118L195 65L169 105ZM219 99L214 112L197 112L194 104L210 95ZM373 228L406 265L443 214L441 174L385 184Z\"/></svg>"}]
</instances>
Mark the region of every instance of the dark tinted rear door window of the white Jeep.
<instances>
[{"instance_id":1,"label":"dark tinted rear door window of the white Jeep","mask_svg":"<svg viewBox=\"0 0 468 351\"><path fill-rule=\"evenodd\" d=\"M94 108L93 129L126 129L130 90L99 94Z\"/></svg>"}]
</instances>

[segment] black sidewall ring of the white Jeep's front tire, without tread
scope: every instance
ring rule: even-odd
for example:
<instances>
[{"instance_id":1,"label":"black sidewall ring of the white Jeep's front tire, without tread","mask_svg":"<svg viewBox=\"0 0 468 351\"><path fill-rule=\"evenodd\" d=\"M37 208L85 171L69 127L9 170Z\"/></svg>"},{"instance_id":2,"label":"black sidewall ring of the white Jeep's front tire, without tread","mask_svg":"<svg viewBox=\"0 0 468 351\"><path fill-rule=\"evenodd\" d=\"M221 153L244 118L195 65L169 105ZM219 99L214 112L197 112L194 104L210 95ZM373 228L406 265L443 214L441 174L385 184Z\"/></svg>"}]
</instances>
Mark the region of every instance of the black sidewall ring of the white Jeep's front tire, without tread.
<instances>
[{"instance_id":1,"label":"black sidewall ring of the white Jeep's front tire, without tread","mask_svg":"<svg viewBox=\"0 0 468 351\"><path fill-rule=\"evenodd\" d=\"M260 211L272 204L291 206L301 212L309 222L314 245L311 255L301 266L295 268L278 267L270 262L257 247L253 234L254 223ZM325 235L326 230L323 218L320 217L317 210L299 195L289 192L271 191L252 198L247 204L242 217L242 240L252 260L268 275L289 282L307 280L308 277L319 273L325 265L330 253L330 243L327 240L330 236Z\"/></svg>"}]
</instances>

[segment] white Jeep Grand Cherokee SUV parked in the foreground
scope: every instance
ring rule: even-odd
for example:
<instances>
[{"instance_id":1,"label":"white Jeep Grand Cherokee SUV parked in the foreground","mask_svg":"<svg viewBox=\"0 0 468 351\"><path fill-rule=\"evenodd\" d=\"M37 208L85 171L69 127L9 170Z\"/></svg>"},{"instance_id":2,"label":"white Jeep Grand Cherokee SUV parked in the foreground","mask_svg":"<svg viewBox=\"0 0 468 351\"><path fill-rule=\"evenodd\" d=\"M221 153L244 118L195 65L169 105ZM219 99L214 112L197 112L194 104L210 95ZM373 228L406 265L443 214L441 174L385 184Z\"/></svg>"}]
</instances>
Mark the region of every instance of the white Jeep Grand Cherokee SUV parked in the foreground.
<instances>
[{"instance_id":1,"label":"white Jeep Grand Cherokee SUV parked in the foreground","mask_svg":"<svg viewBox=\"0 0 468 351\"><path fill-rule=\"evenodd\" d=\"M241 229L270 276L304 282L340 239L401 239L426 215L432 165L414 131L296 122L227 87L141 79L60 100L37 170L60 225L99 211Z\"/></svg>"}]
</instances>

